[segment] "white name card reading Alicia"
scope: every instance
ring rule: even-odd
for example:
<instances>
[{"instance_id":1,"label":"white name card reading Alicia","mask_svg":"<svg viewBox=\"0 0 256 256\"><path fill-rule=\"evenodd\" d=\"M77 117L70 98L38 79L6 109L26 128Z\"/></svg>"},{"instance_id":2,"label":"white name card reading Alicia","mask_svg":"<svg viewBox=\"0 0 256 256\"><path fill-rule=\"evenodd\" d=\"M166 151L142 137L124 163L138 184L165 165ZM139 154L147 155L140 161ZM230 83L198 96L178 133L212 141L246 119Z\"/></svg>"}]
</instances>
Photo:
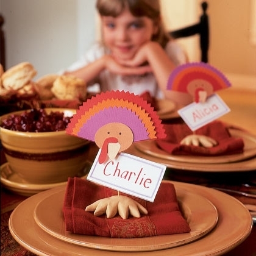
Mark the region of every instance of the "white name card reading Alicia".
<instances>
[{"instance_id":1,"label":"white name card reading Alicia","mask_svg":"<svg viewBox=\"0 0 256 256\"><path fill-rule=\"evenodd\" d=\"M218 94L211 95L204 103L193 102L178 110L179 115L193 131L229 112L230 108Z\"/></svg>"}]
</instances>

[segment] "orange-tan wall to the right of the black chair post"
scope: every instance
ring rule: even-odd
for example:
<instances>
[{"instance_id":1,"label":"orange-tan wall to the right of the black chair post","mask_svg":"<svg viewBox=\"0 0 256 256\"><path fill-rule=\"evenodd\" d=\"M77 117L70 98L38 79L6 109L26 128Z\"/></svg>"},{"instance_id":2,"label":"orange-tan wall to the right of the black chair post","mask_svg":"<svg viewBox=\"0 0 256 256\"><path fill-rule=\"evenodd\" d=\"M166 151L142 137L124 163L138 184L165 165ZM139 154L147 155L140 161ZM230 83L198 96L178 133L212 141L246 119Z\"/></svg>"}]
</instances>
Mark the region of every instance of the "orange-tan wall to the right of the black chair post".
<instances>
[{"instance_id":1,"label":"orange-tan wall to the right of the black chair post","mask_svg":"<svg viewBox=\"0 0 256 256\"><path fill-rule=\"evenodd\" d=\"M227 73L256 75L256 44L252 42L255 0L210 0L210 62ZM255 85L256 86L256 85Z\"/></svg>"}]
</instances>

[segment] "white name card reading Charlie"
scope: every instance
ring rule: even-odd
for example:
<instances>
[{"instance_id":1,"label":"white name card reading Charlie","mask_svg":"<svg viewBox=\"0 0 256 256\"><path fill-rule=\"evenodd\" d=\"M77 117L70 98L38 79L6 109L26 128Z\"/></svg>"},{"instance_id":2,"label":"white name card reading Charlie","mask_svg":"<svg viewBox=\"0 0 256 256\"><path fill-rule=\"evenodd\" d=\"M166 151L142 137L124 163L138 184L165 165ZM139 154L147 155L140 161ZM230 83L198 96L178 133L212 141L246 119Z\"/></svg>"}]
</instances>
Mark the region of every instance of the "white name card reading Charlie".
<instances>
[{"instance_id":1,"label":"white name card reading Charlie","mask_svg":"<svg viewBox=\"0 0 256 256\"><path fill-rule=\"evenodd\" d=\"M101 149L91 166L88 180L154 202L165 174L165 165L126 153L119 153L113 161L100 164L100 153Z\"/></svg>"}]
</instances>

